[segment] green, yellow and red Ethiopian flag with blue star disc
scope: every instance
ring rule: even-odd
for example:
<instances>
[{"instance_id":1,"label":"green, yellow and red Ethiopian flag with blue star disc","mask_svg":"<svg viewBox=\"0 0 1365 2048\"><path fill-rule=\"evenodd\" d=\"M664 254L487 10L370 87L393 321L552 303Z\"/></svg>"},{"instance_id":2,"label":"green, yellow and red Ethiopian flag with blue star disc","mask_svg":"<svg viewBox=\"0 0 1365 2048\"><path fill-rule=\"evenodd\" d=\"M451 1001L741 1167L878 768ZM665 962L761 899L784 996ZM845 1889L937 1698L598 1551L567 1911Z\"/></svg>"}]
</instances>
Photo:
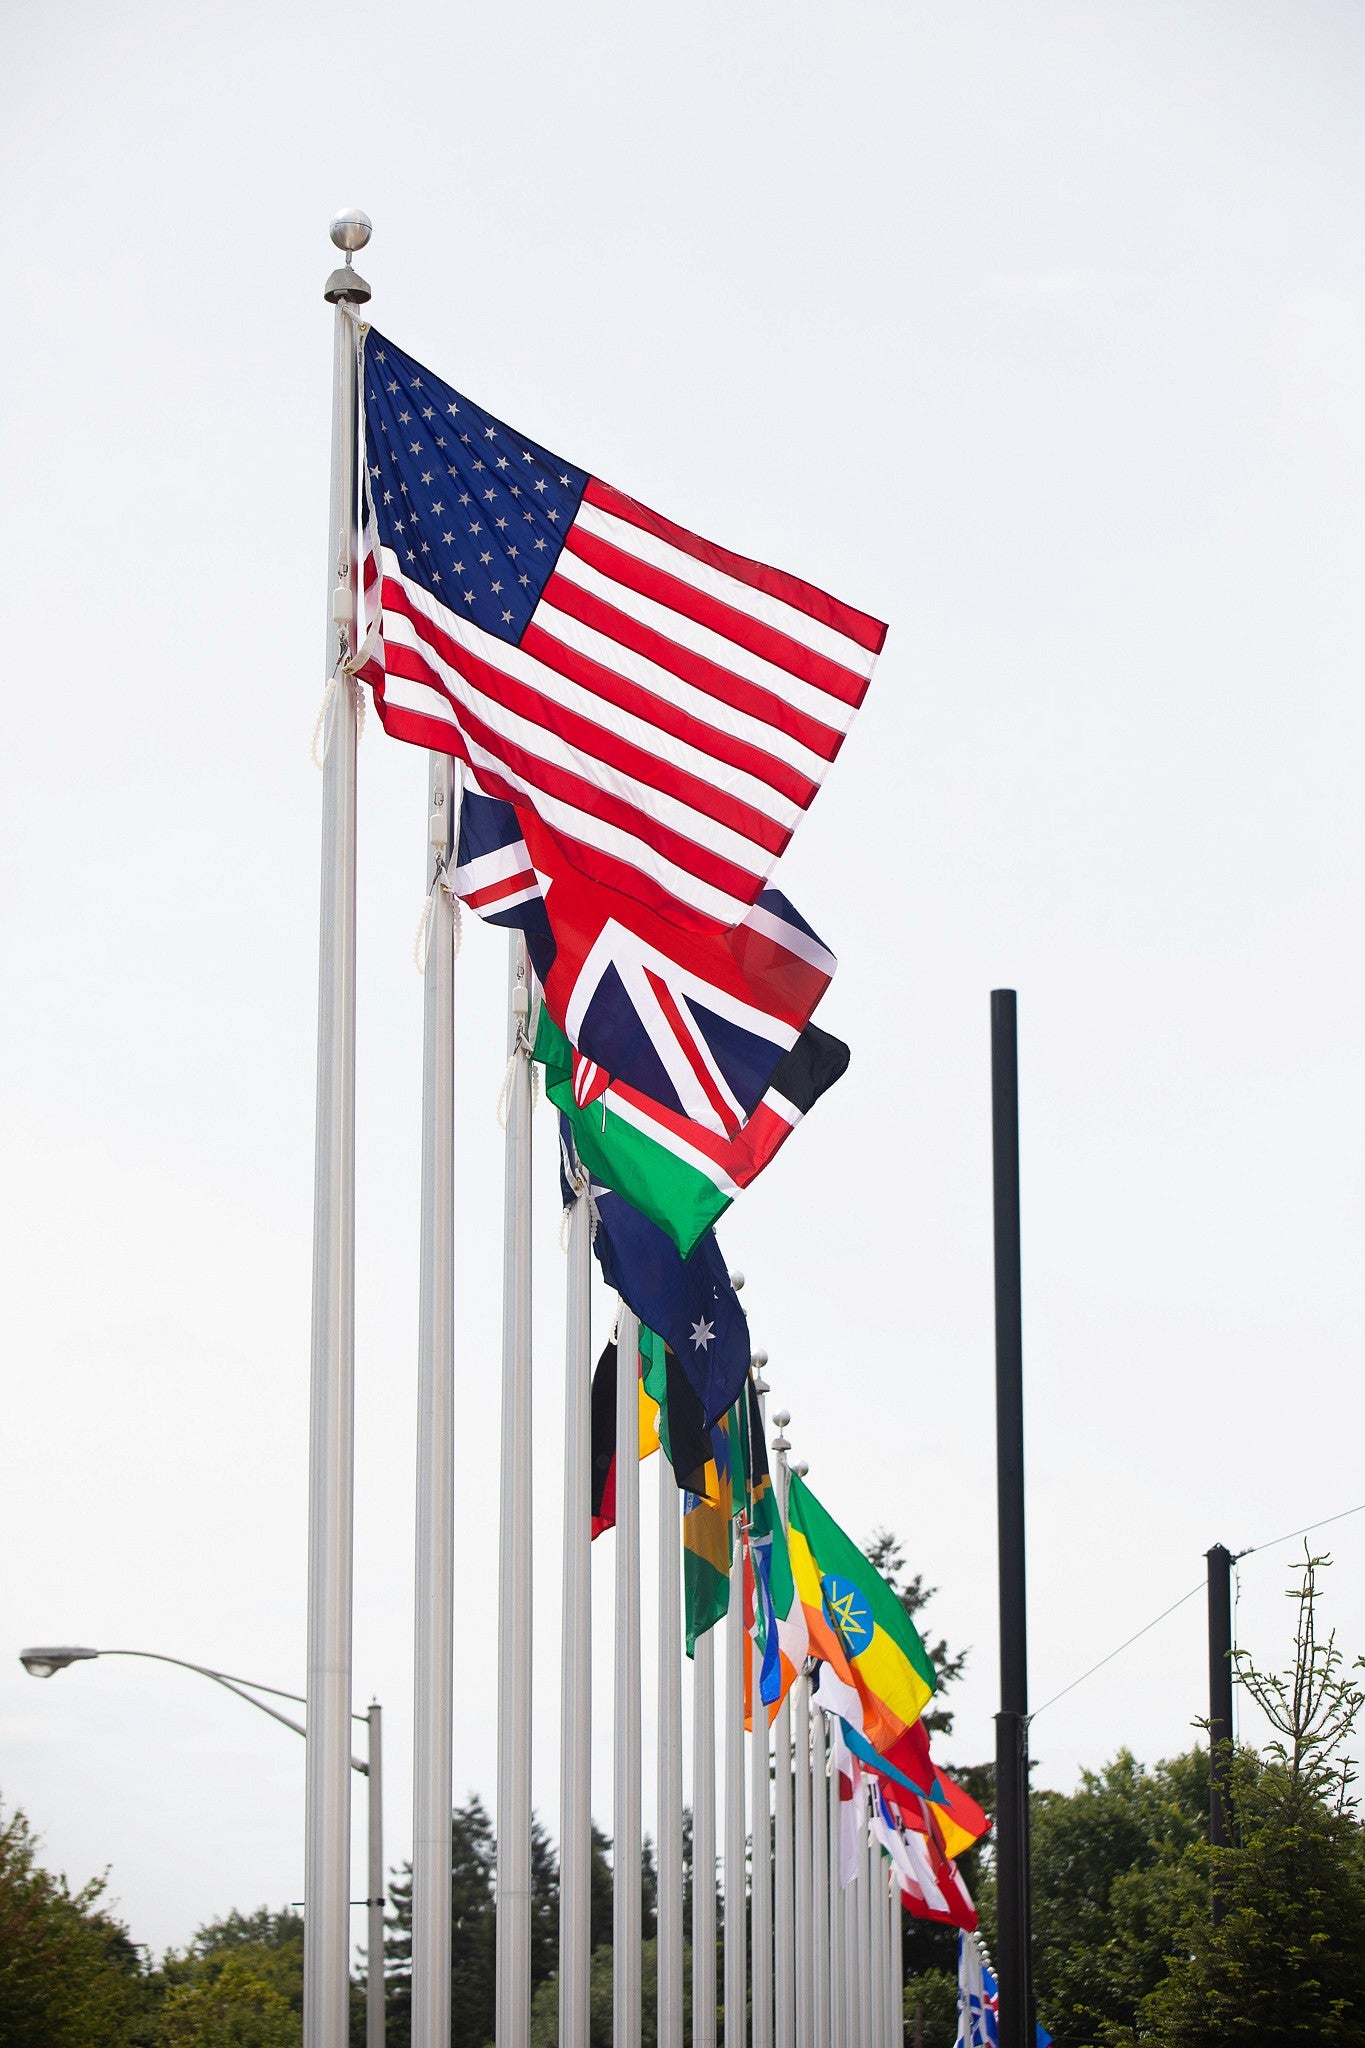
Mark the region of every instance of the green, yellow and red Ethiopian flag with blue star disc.
<instances>
[{"instance_id":1,"label":"green, yellow and red Ethiopian flag with blue star disc","mask_svg":"<svg viewBox=\"0 0 1365 2048\"><path fill-rule=\"evenodd\" d=\"M935 1690L919 1630L882 1573L796 1473L788 1491L788 1548L810 1655L853 1688L862 1733L886 1753Z\"/></svg>"}]
</instances>

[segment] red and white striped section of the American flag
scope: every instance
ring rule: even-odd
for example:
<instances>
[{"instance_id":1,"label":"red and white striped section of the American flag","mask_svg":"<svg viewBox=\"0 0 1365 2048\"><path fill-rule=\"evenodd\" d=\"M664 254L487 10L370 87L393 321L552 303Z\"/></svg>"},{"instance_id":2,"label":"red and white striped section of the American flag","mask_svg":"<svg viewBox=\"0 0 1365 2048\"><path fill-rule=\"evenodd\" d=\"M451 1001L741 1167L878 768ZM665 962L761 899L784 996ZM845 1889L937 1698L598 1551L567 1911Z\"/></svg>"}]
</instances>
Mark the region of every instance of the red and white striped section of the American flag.
<instances>
[{"instance_id":1,"label":"red and white striped section of the American flag","mask_svg":"<svg viewBox=\"0 0 1365 2048\"><path fill-rule=\"evenodd\" d=\"M385 729L467 760L575 866L737 924L864 700L886 627L589 479L512 647L368 528L360 674Z\"/></svg>"}]
</instances>

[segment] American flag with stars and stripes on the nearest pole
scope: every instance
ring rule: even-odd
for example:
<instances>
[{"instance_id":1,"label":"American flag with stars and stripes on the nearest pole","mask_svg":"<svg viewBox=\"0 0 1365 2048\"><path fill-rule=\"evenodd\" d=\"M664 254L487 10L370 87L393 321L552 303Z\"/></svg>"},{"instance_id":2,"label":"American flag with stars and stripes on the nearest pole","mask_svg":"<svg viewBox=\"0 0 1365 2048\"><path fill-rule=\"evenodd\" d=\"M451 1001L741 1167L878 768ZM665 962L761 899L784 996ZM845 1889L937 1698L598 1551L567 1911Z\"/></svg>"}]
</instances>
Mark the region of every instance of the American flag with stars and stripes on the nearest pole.
<instances>
[{"instance_id":1,"label":"American flag with stars and stripes on the nearest pole","mask_svg":"<svg viewBox=\"0 0 1365 2048\"><path fill-rule=\"evenodd\" d=\"M843 745L886 627L733 555L362 344L366 635L389 733L567 860L735 926Z\"/></svg>"}]
</instances>

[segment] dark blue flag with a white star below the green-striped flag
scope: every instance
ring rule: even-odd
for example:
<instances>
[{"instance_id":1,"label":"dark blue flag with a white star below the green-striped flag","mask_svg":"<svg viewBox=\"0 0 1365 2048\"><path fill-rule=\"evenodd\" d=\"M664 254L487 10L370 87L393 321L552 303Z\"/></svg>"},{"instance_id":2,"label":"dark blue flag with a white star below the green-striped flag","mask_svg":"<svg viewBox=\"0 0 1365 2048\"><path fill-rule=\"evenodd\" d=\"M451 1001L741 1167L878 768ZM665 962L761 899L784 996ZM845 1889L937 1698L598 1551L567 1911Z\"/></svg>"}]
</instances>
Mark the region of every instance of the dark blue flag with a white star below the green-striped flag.
<instances>
[{"instance_id":1,"label":"dark blue flag with a white star below the green-striped flag","mask_svg":"<svg viewBox=\"0 0 1365 2048\"><path fill-rule=\"evenodd\" d=\"M749 1378L749 1321L716 1233L706 1231L690 1260L671 1237L620 1194L593 1182L602 1278L641 1323L669 1343L696 1391L706 1423L718 1421Z\"/></svg>"}]
</instances>

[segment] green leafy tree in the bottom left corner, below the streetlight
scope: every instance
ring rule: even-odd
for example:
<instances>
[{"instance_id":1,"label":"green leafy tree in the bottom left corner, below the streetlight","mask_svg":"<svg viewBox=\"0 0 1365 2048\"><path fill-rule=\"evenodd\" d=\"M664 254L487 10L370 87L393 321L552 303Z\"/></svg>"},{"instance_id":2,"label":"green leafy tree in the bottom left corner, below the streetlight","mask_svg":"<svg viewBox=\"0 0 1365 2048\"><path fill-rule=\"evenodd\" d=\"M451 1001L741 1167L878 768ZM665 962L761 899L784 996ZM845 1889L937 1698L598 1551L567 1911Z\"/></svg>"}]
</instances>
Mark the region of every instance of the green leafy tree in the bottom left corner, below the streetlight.
<instances>
[{"instance_id":1,"label":"green leafy tree in the bottom left corner, below the streetlight","mask_svg":"<svg viewBox=\"0 0 1365 2048\"><path fill-rule=\"evenodd\" d=\"M23 1812L0 1812L0 2042L143 2048L153 1995L127 1929L100 1911L104 1880L72 1890L43 1870Z\"/></svg>"}]
</instances>

